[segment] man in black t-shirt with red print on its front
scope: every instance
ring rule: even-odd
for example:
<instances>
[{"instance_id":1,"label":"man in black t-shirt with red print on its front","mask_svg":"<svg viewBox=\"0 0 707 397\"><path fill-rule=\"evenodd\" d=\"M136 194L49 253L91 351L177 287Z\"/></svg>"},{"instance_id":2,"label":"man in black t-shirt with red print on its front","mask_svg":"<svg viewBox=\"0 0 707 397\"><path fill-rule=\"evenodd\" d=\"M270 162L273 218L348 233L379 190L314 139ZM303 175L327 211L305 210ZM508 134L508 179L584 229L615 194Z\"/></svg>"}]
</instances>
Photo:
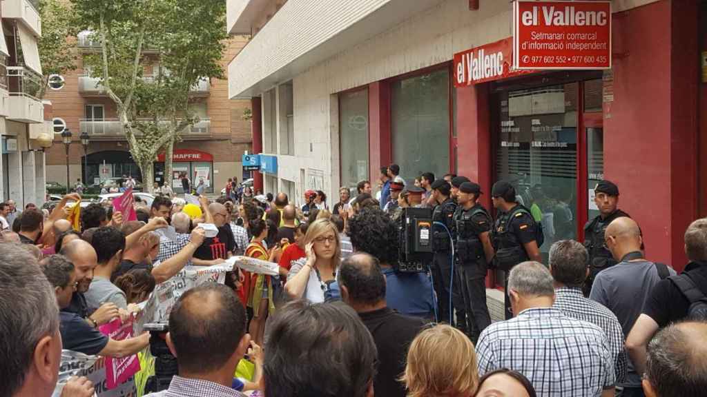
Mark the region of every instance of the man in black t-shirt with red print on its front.
<instances>
[{"instance_id":1,"label":"man in black t-shirt with red print on its front","mask_svg":"<svg viewBox=\"0 0 707 397\"><path fill-rule=\"evenodd\" d=\"M233 256L233 252L236 249L233 232L230 230L230 225L228 225L228 211L226 211L226 206L221 203L211 203L209 204L208 210L211 218L214 219L214 225L216 225L218 229L218 234L216 237L204 239L201 246L194 252L195 259L204 261L194 261L195 265L204 264L210 266L223 262L225 259Z\"/></svg>"}]
</instances>

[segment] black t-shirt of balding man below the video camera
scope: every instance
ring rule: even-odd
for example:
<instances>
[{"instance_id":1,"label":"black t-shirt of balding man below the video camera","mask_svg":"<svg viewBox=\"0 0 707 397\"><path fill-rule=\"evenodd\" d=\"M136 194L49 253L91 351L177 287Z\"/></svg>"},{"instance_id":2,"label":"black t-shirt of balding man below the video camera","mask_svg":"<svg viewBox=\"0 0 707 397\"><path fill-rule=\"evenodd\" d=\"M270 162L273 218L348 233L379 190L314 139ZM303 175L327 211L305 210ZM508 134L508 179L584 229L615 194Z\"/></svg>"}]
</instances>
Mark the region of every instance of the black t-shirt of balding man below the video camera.
<instances>
[{"instance_id":1,"label":"black t-shirt of balding man below the video camera","mask_svg":"<svg viewBox=\"0 0 707 397\"><path fill-rule=\"evenodd\" d=\"M373 382L376 396L405 397L405 386L397 379L405 371L407 349L425 322L417 317L399 314L390 307L359 313L358 316L370 331L378 349L378 374Z\"/></svg>"}]
</instances>

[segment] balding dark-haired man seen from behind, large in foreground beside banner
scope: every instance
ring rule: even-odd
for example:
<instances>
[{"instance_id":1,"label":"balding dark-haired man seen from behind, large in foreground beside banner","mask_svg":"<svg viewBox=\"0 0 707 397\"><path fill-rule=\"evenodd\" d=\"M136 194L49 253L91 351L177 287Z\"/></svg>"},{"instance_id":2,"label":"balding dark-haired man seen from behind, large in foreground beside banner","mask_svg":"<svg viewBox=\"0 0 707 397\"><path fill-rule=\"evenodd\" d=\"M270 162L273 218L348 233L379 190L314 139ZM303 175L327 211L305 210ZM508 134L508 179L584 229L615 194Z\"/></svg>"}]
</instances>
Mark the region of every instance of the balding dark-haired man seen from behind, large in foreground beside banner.
<instances>
[{"instance_id":1,"label":"balding dark-haired man seen from behind, large in foreground beside banner","mask_svg":"<svg viewBox=\"0 0 707 397\"><path fill-rule=\"evenodd\" d=\"M233 373L250 344L245 308L226 285L206 283L185 292L170 312L167 345L179 374L168 390L147 397L233 396Z\"/></svg>"}]
</instances>

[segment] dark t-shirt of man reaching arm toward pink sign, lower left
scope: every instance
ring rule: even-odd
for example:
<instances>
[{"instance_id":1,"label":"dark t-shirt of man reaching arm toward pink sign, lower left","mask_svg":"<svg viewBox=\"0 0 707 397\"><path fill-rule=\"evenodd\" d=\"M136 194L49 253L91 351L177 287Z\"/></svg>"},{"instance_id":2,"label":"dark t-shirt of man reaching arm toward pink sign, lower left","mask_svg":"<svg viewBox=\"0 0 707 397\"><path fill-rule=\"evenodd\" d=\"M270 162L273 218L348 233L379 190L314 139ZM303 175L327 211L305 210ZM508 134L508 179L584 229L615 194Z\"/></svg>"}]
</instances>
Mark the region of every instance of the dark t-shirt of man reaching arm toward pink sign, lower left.
<instances>
[{"instance_id":1,"label":"dark t-shirt of man reaching arm toward pink sign, lower left","mask_svg":"<svg viewBox=\"0 0 707 397\"><path fill-rule=\"evenodd\" d=\"M108 344L108 337L90 326L86 320L75 313L60 312L59 331L62 333L62 345L66 350L97 355Z\"/></svg>"}]
</instances>

